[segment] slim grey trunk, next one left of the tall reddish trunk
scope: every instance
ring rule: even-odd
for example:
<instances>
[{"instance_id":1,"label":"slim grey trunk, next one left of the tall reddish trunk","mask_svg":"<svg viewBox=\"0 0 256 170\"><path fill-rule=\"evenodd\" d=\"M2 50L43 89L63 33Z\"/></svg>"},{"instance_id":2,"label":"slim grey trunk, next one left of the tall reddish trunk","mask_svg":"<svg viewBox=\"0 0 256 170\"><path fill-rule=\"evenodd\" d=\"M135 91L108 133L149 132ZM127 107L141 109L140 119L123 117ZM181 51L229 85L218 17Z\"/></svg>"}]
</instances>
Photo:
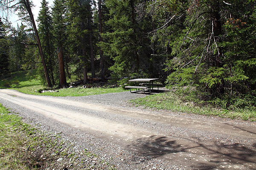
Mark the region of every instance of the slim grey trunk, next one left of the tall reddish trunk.
<instances>
[{"instance_id":1,"label":"slim grey trunk, next one left of the tall reddish trunk","mask_svg":"<svg viewBox=\"0 0 256 170\"><path fill-rule=\"evenodd\" d=\"M88 12L90 12L90 5L87 7ZM90 41L90 60L91 60L91 72L92 78L95 77L95 65L94 65L94 52L93 52L93 28L91 25L91 14L88 16L88 30L89 30L89 41Z\"/></svg>"}]
</instances>

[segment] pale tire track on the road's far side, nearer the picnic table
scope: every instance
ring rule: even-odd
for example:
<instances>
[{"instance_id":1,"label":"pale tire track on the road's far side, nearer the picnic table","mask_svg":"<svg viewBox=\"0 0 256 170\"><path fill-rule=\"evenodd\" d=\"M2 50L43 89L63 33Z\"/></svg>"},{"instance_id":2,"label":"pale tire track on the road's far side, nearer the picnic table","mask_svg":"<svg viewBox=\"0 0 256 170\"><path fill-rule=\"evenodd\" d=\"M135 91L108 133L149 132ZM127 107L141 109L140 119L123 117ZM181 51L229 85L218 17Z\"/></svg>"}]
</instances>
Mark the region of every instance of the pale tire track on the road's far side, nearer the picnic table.
<instances>
[{"instance_id":1,"label":"pale tire track on the road's far side, nearer the picnic table","mask_svg":"<svg viewBox=\"0 0 256 170\"><path fill-rule=\"evenodd\" d=\"M198 120L198 119L189 119L189 118L180 118L172 115L164 115L164 114L156 114L154 112L148 112L148 111L137 111L136 109L128 109L128 108L117 108L113 106L108 105L99 105L99 104L90 104L85 102L76 102L76 101L70 101L67 99L58 99L56 97L48 97L48 96L35 96L35 95L27 95L22 94L17 91L9 91L9 90L1 90L1 92L5 94L9 94L12 96L20 96L23 98L30 98L30 99L39 99L44 100L48 102L56 102L65 105L70 105L78 108L85 108L90 109L93 111L100 111L100 112L108 112L108 113L115 113L120 115L126 115L133 118L145 118L150 119L152 121L157 121L161 123L166 124L172 124L172 126L179 126L179 127L186 127L186 128L192 128L192 129L204 129L207 131L217 131L218 133L224 133L224 134L231 134L233 136L239 136L240 138L242 136L248 138L251 137L256 140L256 134L251 133L253 130L255 130L255 127L247 126L244 127L242 125L239 127L239 125L233 126L232 124L223 124L220 122L206 122L204 120Z\"/></svg>"}]
</instances>

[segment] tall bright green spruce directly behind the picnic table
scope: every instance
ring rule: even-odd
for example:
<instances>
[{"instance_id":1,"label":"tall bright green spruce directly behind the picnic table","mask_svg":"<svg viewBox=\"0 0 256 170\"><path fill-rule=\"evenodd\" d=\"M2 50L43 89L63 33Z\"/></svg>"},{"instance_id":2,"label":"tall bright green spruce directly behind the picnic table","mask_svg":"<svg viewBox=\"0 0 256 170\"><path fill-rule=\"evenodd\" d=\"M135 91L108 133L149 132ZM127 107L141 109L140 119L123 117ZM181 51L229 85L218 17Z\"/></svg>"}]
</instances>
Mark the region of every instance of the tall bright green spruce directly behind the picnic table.
<instances>
[{"instance_id":1,"label":"tall bright green spruce directly behind the picnic table","mask_svg":"<svg viewBox=\"0 0 256 170\"><path fill-rule=\"evenodd\" d=\"M137 0L106 1L111 16L107 25L112 30L103 34L105 40L100 46L104 54L114 60L109 69L115 77L159 76L150 71L153 64L148 37L150 20L138 16L137 7L140 4Z\"/></svg>"}]
</instances>

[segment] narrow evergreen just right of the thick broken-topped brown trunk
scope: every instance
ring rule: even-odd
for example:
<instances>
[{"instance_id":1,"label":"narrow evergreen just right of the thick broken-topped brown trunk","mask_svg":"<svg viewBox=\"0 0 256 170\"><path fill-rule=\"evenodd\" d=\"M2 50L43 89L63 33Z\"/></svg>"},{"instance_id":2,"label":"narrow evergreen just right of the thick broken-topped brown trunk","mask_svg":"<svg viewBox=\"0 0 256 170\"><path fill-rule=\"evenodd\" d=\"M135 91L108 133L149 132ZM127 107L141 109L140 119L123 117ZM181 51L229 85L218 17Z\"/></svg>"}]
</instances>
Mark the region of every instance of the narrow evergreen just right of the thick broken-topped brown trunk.
<instances>
[{"instance_id":1,"label":"narrow evergreen just right of the thick broken-topped brown trunk","mask_svg":"<svg viewBox=\"0 0 256 170\"><path fill-rule=\"evenodd\" d=\"M91 48L89 30L88 6L90 1L87 0L67 0L67 32L68 32L68 51L73 56L73 62L77 65L77 74L80 75L82 70L84 84L87 83L87 71L90 63ZM89 40L89 42L87 41Z\"/></svg>"}]
</instances>

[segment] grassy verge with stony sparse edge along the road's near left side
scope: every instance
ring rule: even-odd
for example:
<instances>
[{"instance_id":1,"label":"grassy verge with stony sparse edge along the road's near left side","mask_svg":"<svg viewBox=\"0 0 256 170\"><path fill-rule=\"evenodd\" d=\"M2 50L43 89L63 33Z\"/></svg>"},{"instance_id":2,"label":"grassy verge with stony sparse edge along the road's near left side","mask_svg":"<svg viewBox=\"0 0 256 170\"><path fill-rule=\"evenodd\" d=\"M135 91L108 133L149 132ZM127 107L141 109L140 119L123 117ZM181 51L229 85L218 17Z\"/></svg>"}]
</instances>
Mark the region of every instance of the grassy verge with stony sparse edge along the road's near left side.
<instances>
[{"instance_id":1,"label":"grassy verge with stony sparse edge along the road's near left side","mask_svg":"<svg viewBox=\"0 0 256 170\"><path fill-rule=\"evenodd\" d=\"M60 136L42 133L22 122L0 104L1 170L114 169L86 149L76 150Z\"/></svg>"}]
</instances>

